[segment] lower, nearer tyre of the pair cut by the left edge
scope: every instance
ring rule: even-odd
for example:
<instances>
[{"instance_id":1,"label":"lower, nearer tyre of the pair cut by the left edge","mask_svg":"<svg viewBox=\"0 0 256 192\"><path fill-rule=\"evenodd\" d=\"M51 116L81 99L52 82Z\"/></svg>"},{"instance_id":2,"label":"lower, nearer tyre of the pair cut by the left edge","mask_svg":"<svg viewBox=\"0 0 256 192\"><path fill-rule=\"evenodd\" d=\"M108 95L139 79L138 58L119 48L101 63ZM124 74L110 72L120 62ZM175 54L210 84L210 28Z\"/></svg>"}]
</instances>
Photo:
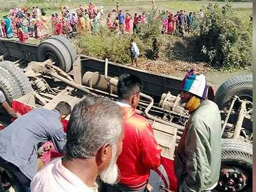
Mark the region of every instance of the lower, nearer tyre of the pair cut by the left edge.
<instances>
[{"instance_id":1,"label":"lower, nearer tyre of the pair cut by the left edge","mask_svg":"<svg viewBox=\"0 0 256 192\"><path fill-rule=\"evenodd\" d=\"M6 101L9 104L12 103L14 99L22 96L22 91L17 82L3 68L0 68L0 90L3 91Z\"/></svg>"}]
</instances>

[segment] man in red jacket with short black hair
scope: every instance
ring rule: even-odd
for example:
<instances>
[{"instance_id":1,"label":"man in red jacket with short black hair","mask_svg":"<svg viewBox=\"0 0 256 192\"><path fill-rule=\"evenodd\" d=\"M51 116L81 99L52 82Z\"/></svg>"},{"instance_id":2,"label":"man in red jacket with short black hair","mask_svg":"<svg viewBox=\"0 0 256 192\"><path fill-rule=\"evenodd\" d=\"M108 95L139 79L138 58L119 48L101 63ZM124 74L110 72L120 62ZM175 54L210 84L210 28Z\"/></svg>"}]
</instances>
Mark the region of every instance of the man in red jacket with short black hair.
<instances>
[{"instance_id":1,"label":"man in red jacket with short black hair","mask_svg":"<svg viewBox=\"0 0 256 192\"><path fill-rule=\"evenodd\" d=\"M161 164L161 147L157 145L150 123L136 112L141 80L132 74L122 74L118 82L117 102L124 111L123 151L117 164L120 183L110 191L147 191L150 169Z\"/></svg>"}]
</instances>

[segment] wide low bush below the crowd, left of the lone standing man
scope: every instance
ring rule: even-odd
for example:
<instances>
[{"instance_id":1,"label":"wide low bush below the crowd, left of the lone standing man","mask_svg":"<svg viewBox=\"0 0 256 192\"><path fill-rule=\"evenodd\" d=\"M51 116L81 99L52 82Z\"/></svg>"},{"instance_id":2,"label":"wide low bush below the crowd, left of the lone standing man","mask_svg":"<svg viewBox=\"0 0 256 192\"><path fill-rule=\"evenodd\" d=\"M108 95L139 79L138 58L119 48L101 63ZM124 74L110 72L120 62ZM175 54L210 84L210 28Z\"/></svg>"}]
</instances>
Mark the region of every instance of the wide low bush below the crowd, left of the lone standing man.
<instances>
[{"instance_id":1,"label":"wide low bush below the crowd, left of the lone standing man","mask_svg":"<svg viewBox=\"0 0 256 192\"><path fill-rule=\"evenodd\" d=\"M77 46L82 54L101 59L108 58L118 63L130 62L131 39L134 39L141 55L145 54L146 44L138 36L124 36L111 34L108 29L101 26L100 33L79 37Z\"/></svg>"}]
</instances>

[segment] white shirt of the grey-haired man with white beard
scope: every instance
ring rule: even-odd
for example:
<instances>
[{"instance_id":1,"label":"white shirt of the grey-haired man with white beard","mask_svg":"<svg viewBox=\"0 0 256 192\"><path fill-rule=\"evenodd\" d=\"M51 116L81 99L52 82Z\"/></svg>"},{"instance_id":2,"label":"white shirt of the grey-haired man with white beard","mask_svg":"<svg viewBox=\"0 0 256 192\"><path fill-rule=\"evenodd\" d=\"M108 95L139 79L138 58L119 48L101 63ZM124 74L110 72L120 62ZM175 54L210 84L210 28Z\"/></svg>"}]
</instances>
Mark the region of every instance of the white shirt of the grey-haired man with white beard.
<instances>
[{"instance_id":1,"label":"white shirt of the grey-haired man with white beard","mask_svg":"<svg viewBox=\"0 0 256 192\"><path fill-rule=\"evenodd\" d=\"M88 187L82 180L62 165L61 158L54 159L42 168L31 182L31 192L98 192L98 185Z\"/></svg>"}]
</instances>

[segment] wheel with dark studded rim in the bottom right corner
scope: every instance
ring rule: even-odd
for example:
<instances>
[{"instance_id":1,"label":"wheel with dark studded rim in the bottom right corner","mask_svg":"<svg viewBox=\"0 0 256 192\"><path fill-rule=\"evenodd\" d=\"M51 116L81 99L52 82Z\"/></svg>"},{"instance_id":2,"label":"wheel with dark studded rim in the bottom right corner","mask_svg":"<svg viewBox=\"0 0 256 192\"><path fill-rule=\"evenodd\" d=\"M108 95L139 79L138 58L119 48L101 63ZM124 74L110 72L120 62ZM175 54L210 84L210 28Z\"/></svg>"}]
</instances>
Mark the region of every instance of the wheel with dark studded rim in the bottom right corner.
<instances>
[{"instance_id":1,"label":"wheel with dark studded rim in the bottom right corner","mask_svg":"<svg viewBox=\"0 0 256 192\"><path fill-rule=\"evenodd\" d=\"M221 170L217 189L252 191L252 144L222 139Z\"/></svg>"}]
</instances>

